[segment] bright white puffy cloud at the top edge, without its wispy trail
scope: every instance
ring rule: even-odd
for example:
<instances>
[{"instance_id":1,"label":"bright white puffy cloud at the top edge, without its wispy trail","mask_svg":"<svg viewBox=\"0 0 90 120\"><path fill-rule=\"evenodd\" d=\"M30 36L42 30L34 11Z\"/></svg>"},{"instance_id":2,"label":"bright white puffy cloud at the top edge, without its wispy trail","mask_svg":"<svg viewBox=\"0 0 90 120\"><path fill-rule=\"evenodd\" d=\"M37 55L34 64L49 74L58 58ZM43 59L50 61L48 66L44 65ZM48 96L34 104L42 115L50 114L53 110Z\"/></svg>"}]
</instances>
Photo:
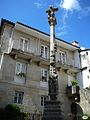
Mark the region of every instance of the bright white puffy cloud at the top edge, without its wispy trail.
<instances>
[{"instance_id":1,"label":"bright white puffy cloud at the top edge, without its wispy trail","mask_svg":"<svg viewBox=\"0 0 90 120\"><path fill-rule=\"evenodd\" d=\"M81 10L78 0L61 0L60 7L68 11Z\"/></svg>"}]
</instances>

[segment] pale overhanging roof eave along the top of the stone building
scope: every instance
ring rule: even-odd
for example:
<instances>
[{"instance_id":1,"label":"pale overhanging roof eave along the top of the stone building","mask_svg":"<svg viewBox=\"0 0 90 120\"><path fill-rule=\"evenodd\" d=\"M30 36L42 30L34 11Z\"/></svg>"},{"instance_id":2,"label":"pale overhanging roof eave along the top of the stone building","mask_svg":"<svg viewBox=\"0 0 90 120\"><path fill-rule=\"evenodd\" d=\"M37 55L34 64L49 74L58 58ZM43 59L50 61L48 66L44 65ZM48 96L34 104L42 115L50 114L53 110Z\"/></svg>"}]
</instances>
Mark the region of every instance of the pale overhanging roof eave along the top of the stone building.
<instances>
[{"instance_id":1,"label":"pale overhanging roof eave along the top of the stone building","mask_svg":"<svg viewBox=\"0 0 90 120\"><path fill-rule=\"evenodd\" d=\"M19 30L19 31L22 31L24 33L30 34L32 36L35 36L37 38L44 39L45 41L49 42L49 39L50 39L49 34L44 33L44 32L42 32L40 30L35 29L35 28L32 28L30 26L24 25L24 24L22 24L20 22L17 22L15 24L15 29ZM55 38L55 39L56 39L56 41L60 42L61 46L65 46L65 48L67 46L67 49L69 49L69 50L75 51L75 50L80 49L80 47L74 46L74 45L72 45L72 44L70 44L70 43L68 43L68 42L66 42L64 40L61 40L59 38Z\"/></svg>"}]
</instances>

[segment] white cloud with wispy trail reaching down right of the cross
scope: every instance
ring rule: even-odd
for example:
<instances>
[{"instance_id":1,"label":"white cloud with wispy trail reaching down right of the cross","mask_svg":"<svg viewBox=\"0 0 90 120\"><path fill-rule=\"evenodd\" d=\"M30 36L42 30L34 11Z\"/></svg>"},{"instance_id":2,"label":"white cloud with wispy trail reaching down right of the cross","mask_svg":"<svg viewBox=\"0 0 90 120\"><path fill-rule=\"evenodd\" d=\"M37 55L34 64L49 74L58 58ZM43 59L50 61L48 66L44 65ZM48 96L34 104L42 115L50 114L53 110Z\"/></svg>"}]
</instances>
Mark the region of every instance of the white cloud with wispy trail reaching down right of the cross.
<instances>
[{"instance_id":1,"label":"white cloud with wispy trail reaching down right of the cross","mask_svg":"<svg viewBox=\"0 0 90 120\"><path fill-rule=\"evenodd\" d=\"M68 34L67 19L69 15L72 15L74 11L81 11L79 0L61 0L59 7L63 10L62 25L58 29L57 36L63 36Z\"/></svg>"}]
</instances>

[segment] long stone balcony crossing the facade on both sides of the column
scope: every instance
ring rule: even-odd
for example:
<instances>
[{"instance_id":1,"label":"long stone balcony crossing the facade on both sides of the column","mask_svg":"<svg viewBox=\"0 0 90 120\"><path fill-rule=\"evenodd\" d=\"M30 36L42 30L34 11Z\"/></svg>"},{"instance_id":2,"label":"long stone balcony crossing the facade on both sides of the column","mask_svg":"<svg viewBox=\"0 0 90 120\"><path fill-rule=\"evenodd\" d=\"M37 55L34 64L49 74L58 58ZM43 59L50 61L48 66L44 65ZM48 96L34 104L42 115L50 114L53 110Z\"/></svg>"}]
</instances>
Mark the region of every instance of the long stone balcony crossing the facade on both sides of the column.
<instances>
[{"instance_id":1,"label":"long stone balcony crossing the facade on both sides of the column","mask_svg":"<svg viewBox=\"0 0 90 120\"><path fill-rule=\"evenodd\" d=\"M34 53L22 51L20 49L12 49L10 52L10 55L14 59L23 59L27 61L27 63L35 62L37 65L46 65L49 67L49 59L43 58L41 55L35 55ZM56 67L57 69L62 69L65 72L71 72L71 73L78 73L80 72L80 69L78 67L75 67L73 60L67 60L68 62L62 63L61 61L57 61Z\"/></svg>"}]
</instances>

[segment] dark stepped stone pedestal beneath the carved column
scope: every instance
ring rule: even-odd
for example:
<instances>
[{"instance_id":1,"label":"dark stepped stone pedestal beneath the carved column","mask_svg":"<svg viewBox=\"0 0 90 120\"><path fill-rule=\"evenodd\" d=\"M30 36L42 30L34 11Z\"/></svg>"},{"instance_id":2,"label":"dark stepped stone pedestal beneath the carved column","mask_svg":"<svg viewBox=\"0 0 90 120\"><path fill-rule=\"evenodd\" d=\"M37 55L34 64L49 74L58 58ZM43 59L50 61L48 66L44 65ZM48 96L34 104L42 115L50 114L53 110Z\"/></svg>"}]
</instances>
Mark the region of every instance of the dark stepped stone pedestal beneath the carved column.
<instances>
[{"instance_id":1,"label":"dark stepped stone pedestal beneath the carved column","mask_svg":"<svg viewBox=\"0 0 90 120\"><path fill-rule=\"evenodd\" d=\"M42 120L64 120L59 101L46 101Z\"/></svg>"}]
</instances>

